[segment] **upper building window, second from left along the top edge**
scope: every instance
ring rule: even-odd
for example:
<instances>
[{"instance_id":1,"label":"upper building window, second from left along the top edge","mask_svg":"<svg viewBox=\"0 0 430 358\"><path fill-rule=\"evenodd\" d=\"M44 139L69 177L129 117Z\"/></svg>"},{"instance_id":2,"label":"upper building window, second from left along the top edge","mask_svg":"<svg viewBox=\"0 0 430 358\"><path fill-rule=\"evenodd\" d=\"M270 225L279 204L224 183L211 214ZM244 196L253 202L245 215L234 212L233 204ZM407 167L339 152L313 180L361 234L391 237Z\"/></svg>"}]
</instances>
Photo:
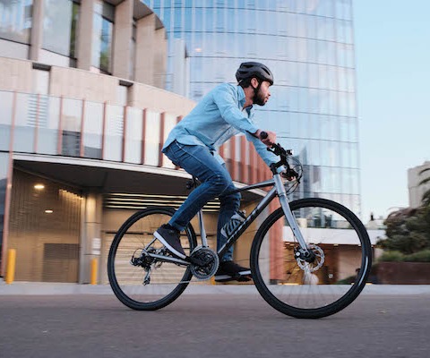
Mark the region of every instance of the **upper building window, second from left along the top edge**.
<instances>
[{"instance_id":1,"label":"upper building window, second from left along the top edge","mask_svg":"<svg viewBox=\"0 0 430 358\"><path fill-rule=\"evenodd\" d=\"M72 0L45 0L43 48L75 58L79 4Z\"/></svg>"}]
</instances>

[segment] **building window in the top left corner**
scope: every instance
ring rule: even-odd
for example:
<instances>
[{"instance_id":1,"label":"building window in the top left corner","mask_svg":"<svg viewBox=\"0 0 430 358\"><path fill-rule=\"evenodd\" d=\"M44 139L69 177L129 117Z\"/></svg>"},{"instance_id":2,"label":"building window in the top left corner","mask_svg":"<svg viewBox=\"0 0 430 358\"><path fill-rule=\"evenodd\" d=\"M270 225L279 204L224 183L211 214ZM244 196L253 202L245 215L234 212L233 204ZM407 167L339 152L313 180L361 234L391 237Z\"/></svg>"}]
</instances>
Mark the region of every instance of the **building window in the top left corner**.
<instances>
[{"instance_id":1,"label":"building window in the top left corner","mask_svg":"<svg viewBox=\"0 0 430 358\"><path fill-rule=\"evenodd\" d=\"M30 44L33 0L0 1L0 38Z\"/></svg>"}]
</instances>

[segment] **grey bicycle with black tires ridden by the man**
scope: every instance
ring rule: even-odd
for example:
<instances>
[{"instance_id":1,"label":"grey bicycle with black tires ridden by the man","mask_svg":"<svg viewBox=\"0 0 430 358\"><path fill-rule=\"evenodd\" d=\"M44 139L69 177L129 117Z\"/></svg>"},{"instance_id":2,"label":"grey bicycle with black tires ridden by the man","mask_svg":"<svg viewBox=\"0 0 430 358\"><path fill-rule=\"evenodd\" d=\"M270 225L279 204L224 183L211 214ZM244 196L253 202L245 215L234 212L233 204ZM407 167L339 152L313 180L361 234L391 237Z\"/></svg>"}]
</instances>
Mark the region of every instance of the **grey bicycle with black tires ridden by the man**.
<instances>
[{"instance_id":1,"label":"grey bicycle with black tires ridden by the man","mask_svg":"<svg viewBox=\"0 0 430 358\"><path fill-rule=\"evenodd\" d=\"M316 319L343 310L357 298L372 265L365 226L352 211L331 200L288 201L287 195L300 183L303 166L279 144L268 150L280 157L271 165L273 178L234 192L269 186L271 190L218 253L208 245L202 210L198 213L202 243L197 244L191 224L181 233L185 260L174 257L153 236L174 209L142 209L125 221L107 260L110 286L122 303L134 310L159 310L173 303L192 279L210 279L219 267L219 258L276 196L280 209L262 222L250 254L254 284L263 299L289 316ZM284 183L278 173L280 166L293 181Z\"/></svg>"}]
</instances>

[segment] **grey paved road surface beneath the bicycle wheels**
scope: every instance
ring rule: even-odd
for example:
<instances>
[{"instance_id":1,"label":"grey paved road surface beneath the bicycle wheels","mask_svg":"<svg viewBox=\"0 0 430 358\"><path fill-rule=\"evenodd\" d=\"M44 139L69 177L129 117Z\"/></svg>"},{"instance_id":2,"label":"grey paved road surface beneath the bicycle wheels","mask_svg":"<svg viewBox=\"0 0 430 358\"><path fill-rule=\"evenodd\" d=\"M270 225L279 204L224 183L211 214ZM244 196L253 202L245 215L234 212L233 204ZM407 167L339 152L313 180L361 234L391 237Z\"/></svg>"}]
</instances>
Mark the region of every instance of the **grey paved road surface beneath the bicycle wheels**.
<instances>
[{"instance_id":1,"label":"grey paved road surface beneath the bicycle wheels","mask_svg":"<svg viewBox=\"0 0 430 358\"><path fill-rule=\"evenodd\" d=\"M0 357L427 357L430 294L362 295L296 320L256 294L185 294L161 311L113 295L0 295Z\"/></svg>"}]
</instances>

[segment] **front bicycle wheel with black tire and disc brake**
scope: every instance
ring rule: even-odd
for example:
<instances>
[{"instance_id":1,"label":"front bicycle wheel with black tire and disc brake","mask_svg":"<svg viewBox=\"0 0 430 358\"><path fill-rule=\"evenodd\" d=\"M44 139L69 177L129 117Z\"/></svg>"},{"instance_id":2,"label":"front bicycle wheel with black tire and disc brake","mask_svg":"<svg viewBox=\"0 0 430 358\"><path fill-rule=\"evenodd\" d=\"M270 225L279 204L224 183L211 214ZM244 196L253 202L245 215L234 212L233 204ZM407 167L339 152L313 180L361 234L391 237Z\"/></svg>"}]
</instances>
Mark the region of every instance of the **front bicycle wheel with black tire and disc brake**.
<instances>
[{"instance_id":1,"label":"front bicycle wheel with black tire and disc brake","mask_svg":"<svg viewBox=\"0 0 430 358\"><path fill-rule=\"evenodd\" d=\"M319 257L312 264L297 261L293 247L298 247L298 243L291 239L289 226L283 225L282 237L279 226L274 226L278 220L285 220L282 209L277 209L264 220L254 237L250 263L255 286L267 303L288 316L330 316L352 303L366 285L372 266L369 236L358 217L337 202L301 199L292 201L290 208L295 217L302 219L301 226L306 223L301 232ZM320 213L320 217L313 216L315 213Z\"/></svg>"}]
</instances>

